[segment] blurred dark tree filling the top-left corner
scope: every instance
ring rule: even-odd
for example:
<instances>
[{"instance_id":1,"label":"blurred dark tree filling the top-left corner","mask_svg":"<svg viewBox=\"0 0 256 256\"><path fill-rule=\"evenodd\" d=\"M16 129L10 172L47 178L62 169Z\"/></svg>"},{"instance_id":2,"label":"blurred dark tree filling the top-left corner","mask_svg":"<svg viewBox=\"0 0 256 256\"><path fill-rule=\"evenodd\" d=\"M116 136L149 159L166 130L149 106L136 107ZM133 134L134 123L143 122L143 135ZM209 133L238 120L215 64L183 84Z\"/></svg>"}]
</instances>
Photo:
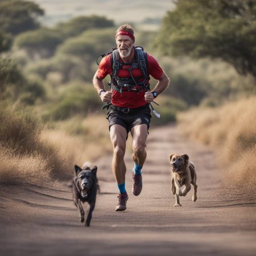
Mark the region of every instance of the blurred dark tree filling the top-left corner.
<instances>
[{"instance_id":1,"label":"blurred dark tree filling the top-left corner","mask_svg":"<svg viewBox=\"0 0 256 256\"><path fill-rule=\"evenodd\" d=\"M0 29L12 35L39 28L38 17L44 10L36 3L0 0Z\"/></svg>"}]
</instances>

